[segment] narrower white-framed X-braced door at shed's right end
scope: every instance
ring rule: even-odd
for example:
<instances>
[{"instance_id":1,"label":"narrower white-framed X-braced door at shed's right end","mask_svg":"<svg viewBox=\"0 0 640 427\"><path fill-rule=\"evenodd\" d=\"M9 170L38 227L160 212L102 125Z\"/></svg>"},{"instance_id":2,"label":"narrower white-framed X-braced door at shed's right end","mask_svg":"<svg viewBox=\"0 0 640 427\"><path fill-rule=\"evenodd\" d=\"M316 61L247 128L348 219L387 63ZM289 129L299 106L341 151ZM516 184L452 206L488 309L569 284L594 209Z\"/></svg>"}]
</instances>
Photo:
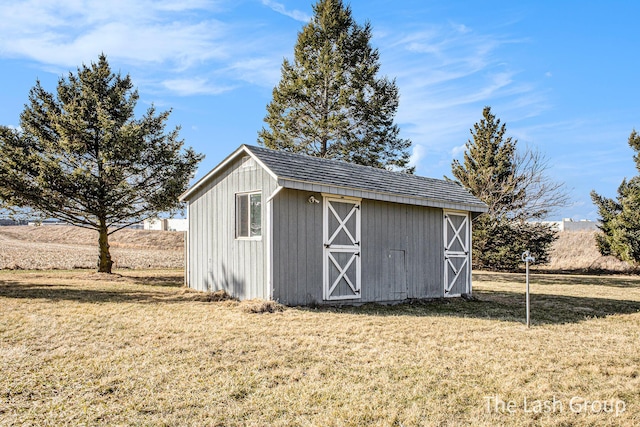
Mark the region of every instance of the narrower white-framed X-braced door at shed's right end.
<instances>
[{"instance_id":1,"label":"narrower white-framed X-braced door at shed's right end","mask_svg":"<svg viewBox=\"0 0 640 427\"><path fill-rule=\"evenodd\" d=\"M444 211L444 296L471 288L471 224L468 212Z\"/></svg>"}]
</instances>

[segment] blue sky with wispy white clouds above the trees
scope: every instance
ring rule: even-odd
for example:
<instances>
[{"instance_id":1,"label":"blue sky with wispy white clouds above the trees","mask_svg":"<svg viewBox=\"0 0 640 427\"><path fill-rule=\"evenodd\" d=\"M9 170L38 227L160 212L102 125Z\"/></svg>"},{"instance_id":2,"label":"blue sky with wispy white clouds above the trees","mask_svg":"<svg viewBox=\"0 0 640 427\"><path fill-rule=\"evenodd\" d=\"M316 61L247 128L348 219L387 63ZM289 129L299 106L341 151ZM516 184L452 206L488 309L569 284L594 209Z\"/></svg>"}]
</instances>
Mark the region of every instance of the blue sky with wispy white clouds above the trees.
<instances>
[{"instance_id":1,"label":"blue sky with wispy white clouds above the trees","mask_svg":"<svg viewBox=\"0 0 640 427\"><path fill-rule=\"evenodd\" d=\"M489 105L520 146L539 149L572 204L551 219L596 219L589 191L614 196L637 174L640 3L633 1L350 2L373 27L382 74L400 90L396 122L419 175L450 175ZM173 109L198 177L255 144L312 2L17 0L0 2L0 124L17 126L29 89L104 52L146 108Z\"/></svg>"}]
</instances>

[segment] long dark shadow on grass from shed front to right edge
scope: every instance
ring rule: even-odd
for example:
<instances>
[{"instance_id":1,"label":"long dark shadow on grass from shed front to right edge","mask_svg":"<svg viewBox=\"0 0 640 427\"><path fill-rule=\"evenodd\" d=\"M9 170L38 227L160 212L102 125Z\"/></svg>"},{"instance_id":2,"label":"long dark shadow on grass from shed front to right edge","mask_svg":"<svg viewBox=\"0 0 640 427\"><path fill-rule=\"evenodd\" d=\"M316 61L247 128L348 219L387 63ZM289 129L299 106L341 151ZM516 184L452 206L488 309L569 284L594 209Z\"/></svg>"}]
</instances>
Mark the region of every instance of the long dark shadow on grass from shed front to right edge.
<instances>
[{"instance_id":1,"label":"long dark shadow on grass from shed front to right edge","mask_svg":"<svg viewBox=\"0 0 640 427\"><path fill-rule=\"evenodd\" d=\"M375 316L450 316L520 323L525 321L523 293L503 291L476 291L472 300L452 298L390 306L364 304L359 307L318 307L314 310ZM531 295L532 325L578 323L593 318L638 312L640 301L550 294Z\"/></svg>"}]
</instances>

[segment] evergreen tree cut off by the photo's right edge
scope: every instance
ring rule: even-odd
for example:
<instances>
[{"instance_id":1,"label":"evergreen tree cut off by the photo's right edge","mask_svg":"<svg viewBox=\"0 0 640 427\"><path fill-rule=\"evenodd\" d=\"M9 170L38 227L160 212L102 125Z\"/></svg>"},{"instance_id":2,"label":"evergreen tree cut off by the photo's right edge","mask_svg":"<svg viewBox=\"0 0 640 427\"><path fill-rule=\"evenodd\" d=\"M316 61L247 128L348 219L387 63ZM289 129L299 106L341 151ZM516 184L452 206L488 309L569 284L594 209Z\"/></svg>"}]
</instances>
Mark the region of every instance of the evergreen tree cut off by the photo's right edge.
<instances>
[{"instance_id":1,"label":"evergreen tree cut off by the photo's right edge","mask_svg":"<svg viewBox=\"0 0 640 427\"><path fill-rule=\"evenodd\" d=\"M640 171L640 135L634 130L629 146L636 152L633 159ZM622 180L616 200L591 191L591 199L600 215L600 231L596 244L602 255L640 262L640 176Z\"/></svg>"}]
</instances>

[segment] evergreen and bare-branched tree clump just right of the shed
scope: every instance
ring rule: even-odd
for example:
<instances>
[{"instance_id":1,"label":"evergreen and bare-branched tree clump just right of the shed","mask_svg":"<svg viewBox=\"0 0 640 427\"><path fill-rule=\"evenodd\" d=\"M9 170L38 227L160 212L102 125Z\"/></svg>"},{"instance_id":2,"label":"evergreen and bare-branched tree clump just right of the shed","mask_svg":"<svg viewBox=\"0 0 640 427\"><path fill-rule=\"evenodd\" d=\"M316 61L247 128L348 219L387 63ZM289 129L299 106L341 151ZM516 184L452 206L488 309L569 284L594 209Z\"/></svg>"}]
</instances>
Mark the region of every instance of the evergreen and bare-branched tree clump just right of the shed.
<instances>
[{"instance_id":1,"label":"evergreen and bare-branched tree clump just right of the shed","mask_svg":"<svg viewBox=\"0 0 640 427\"><path fill-rule=\"evenodd\" d=\"M518 152L517 141L505 136L506 125L490 107L482 115L471 129L463 163L454 160L451 165L455 180L489 207L473 223L473 262L480 268L513 270L525 250L536 262L548 262L557 233L528 221L566 203L563 185L544 175L545 159L537 151Z\"/></svg>"}]
</instances>

